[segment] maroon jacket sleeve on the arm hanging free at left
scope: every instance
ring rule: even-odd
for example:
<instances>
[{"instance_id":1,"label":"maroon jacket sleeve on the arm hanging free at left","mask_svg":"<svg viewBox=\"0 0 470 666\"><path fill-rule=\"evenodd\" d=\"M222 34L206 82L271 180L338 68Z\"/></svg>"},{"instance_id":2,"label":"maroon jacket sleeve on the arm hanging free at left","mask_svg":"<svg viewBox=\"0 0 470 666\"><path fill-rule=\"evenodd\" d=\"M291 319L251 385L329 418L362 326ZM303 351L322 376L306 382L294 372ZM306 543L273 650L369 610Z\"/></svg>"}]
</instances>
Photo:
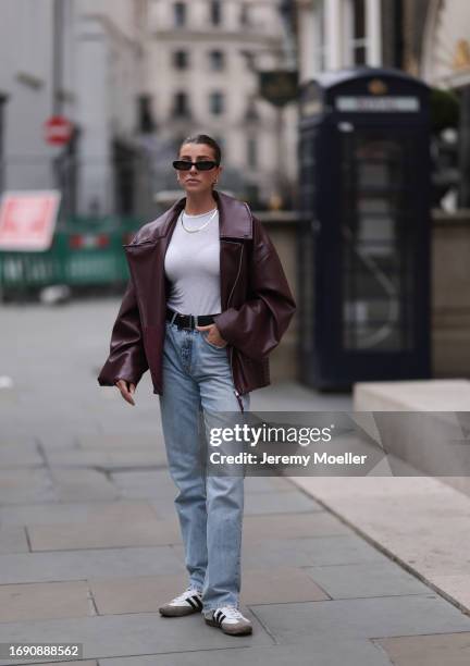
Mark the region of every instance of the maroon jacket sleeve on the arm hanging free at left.
<instances>
[{"instance_id":1,"label":"maroon jacket sleeve on the arm hanging free at left","mask_svg":"<svg viewBox=\"0 0 470 666\"><path fill-rule=\"evenodd\" d=\"M131 279L112 329L110 354L98 375L98 383L100 386L113 386L119 379L124 379L137 385L146 370L148 362L140 316Z\"/></svg>"}]
</instances>

